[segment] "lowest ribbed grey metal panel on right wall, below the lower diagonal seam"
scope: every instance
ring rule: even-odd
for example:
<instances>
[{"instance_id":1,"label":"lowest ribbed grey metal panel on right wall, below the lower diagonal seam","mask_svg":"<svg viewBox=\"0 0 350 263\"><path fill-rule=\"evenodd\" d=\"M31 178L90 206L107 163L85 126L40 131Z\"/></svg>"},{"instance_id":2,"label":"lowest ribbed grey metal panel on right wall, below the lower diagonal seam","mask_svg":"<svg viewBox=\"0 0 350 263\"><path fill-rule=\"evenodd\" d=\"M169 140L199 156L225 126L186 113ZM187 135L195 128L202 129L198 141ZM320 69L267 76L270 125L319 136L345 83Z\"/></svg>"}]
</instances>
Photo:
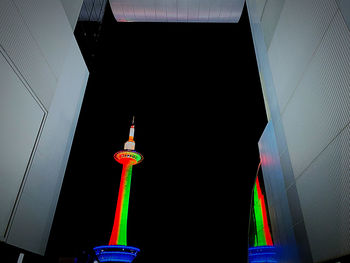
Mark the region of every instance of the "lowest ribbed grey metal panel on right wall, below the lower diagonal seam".
<instances>
[{"instance_id":1,"label":"lowest ribbed grey metal panel on right wall, below the lower diagonal seam","mask_svg":"<svg viewBox=\"0 0 350 263\"><path fill-rule=\"evenodd\" d=\"M350 253L350 126L297 180L316 262Z\"/></svg>"}]
</instances>

